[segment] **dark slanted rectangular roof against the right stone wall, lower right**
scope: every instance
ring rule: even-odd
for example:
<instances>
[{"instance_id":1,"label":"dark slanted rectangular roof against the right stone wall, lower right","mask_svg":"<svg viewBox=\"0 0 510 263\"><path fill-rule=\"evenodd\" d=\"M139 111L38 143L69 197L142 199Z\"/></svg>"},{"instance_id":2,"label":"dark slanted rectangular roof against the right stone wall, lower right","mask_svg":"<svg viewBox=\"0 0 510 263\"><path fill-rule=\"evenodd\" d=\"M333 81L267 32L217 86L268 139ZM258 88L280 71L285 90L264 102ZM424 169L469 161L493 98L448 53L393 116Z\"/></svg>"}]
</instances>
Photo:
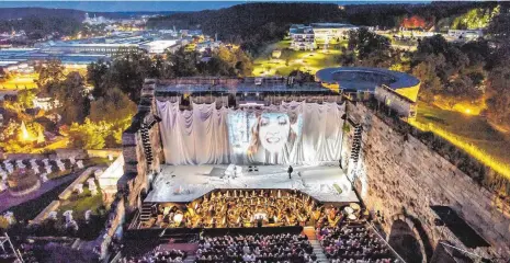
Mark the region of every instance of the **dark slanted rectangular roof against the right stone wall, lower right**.
<instances>
[{"instance_id":1,"label":"dark slanted rectangular roof against the right stone wall, lower right","mask_svg":"<svg viewBox=\"0 0 510 263\"><path fill-rule=\"evenodd\" d=\"M455 210L449 206L431 206L432 210L441 218L461 242L469 249L490 247Z\"/></svg>"}]
</instances>

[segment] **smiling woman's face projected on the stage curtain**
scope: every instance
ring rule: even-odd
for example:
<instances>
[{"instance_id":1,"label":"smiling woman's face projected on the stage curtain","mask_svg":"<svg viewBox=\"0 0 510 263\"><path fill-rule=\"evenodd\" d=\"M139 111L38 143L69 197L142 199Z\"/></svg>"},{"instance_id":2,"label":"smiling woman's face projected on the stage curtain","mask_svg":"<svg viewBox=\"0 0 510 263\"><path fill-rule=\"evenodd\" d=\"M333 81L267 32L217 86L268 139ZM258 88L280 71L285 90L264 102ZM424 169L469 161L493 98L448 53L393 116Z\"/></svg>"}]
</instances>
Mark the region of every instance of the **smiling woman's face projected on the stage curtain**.
<instances>
[{"instance_id":1,"label":"smiling woman's face projected on the stage curtain","mask_svg":"<svg viewBox=\"0 0 510 263\"><path fill-rule=\"evenodd\" d=\"M288 139L291 119L284 113L262 113L259 121L259 139L270 152L279 152Z\"/></svg>"}]
</instances>

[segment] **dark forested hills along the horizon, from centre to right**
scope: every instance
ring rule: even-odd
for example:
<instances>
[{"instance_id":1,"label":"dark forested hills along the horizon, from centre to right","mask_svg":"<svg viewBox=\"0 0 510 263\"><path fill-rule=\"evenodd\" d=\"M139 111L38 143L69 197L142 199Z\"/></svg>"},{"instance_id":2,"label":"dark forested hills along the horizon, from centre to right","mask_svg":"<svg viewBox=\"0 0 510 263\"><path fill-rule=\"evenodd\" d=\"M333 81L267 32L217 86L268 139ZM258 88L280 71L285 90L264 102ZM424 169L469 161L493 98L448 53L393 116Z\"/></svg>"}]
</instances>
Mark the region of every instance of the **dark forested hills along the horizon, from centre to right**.
<instances>
[{"instance_id":1,"label":"dark forested hills along the horizon, from centre to right","mask_svg":"<svg viewBox=\"0 0 510 263\"><path fill-rule=\"evenodd\" d=\"M150 19L150 28L201 28L220 39L241 44L250 52L264 43L281 39L293 23L344 22L356 25L395 27L412 15L432 24L458 16L495 2L432 2L430 4L351 4L335 3L248 3L216 11L177 13Z\"/></svg>"}]
</instances>

